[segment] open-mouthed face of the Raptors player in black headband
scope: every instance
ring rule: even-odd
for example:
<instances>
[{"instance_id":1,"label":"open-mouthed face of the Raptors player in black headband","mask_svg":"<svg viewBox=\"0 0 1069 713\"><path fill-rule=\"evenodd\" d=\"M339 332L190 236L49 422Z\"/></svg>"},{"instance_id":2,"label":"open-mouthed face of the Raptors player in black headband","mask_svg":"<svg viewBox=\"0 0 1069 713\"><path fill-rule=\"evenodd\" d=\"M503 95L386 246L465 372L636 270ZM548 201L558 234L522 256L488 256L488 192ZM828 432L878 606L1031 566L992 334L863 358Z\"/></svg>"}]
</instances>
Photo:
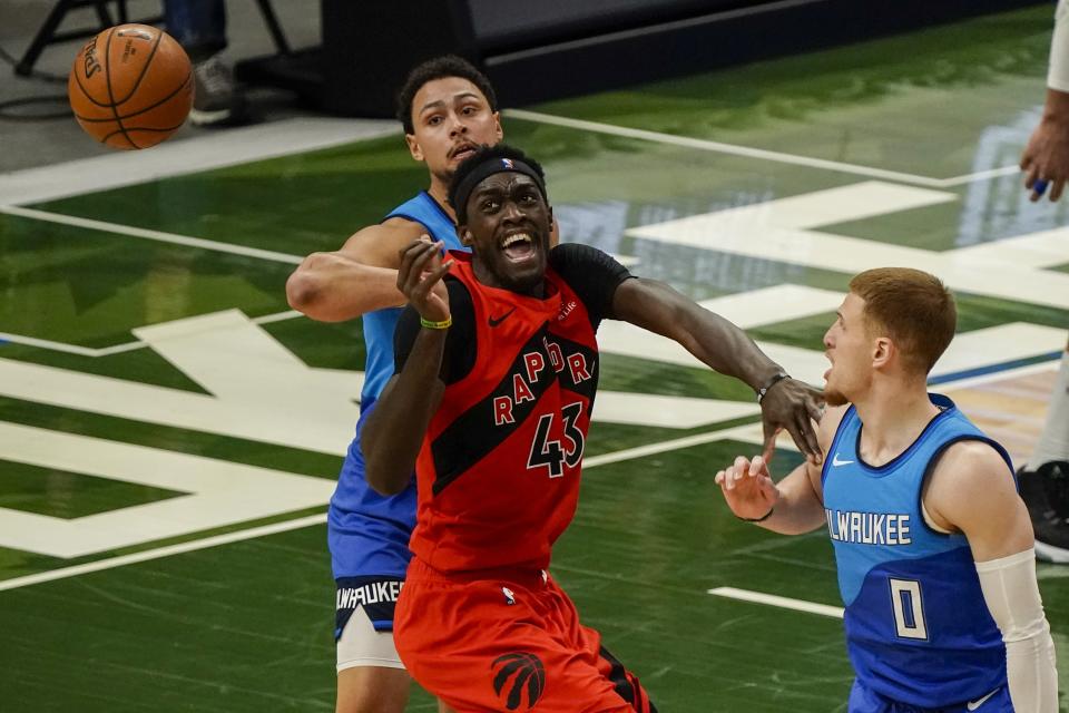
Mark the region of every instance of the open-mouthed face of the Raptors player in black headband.
<instances>
[{"instance_id":1,"label":"open-mouthed face of the Raptors player in black headband","mask_svg":"<svg viewBox=\"0 0 1069 713\"><path fill-rule=\"evenodd\" d=\"M474 252L475 276L491 287L532 294L546 274L551 224L552 211L530 176L484 178L468 197L461 231Z\"/></svg>"}]
</instances>

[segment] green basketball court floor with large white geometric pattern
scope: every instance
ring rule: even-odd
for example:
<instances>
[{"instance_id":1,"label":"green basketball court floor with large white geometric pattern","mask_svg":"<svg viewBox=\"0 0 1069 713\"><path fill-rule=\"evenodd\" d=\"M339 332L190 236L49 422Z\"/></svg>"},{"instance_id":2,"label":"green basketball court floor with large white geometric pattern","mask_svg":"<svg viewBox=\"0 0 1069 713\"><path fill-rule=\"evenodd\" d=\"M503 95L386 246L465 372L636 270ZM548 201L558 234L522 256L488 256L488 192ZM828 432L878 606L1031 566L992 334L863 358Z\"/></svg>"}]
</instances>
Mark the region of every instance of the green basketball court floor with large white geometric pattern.
<instances>
[{"instance_id":1,"label":"green basketball court floor with large white geometric pattern","mask_svg":"<svg viewBox=\"0 0 1069 713\"><path fill-rule=\"evenodd\" d=\"M1028 203L1014 168L1050 14L507 113L506 131L546 164L565 240L703 301L814 383L851 275L938 272L961 320L933 388L1023 456L1069 329L1069 203ZM301 319L283 285L425 175L396 135L274 156L90 193L59 170L0 207L4 711L333 707L323 514L364 354L359 323ZM661 340L612 323L600 340L556 576L663 711L844 710L826 535L744 527L712 482L757 448L753 394ZM795 463L785 449L775 469ZM1062 661L1067 575L1040 567Z\"/></svg>"}]
</instances>

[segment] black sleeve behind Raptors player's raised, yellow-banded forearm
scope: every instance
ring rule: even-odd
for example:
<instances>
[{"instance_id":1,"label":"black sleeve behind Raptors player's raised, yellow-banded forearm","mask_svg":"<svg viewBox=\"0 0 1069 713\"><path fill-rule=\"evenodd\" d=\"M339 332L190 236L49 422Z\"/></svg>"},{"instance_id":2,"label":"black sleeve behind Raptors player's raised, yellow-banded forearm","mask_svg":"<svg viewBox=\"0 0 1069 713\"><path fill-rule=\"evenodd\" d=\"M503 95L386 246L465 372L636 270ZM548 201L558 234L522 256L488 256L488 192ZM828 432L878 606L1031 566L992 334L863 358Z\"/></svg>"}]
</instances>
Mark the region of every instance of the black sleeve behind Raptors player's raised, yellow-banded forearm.
<instances>
[{"instance_id":1,"label":"black sleeve behind Raptors player's raised, yellow-banded forearm","mask_svg":"<svg viewBox=\"0 0 1069 713\"><path fill-rule=\"evenodd\" d=\"M449 312L453 324L445 335L445 353L439 375L443 383L450 384L467 377L475 365L475 322L471 295L464 283L447 275L445 289L449 290ZM421 329L420 313L406 305L393 332L393 373L400 373L404 368Z\"/></svg>"}]
</instances>

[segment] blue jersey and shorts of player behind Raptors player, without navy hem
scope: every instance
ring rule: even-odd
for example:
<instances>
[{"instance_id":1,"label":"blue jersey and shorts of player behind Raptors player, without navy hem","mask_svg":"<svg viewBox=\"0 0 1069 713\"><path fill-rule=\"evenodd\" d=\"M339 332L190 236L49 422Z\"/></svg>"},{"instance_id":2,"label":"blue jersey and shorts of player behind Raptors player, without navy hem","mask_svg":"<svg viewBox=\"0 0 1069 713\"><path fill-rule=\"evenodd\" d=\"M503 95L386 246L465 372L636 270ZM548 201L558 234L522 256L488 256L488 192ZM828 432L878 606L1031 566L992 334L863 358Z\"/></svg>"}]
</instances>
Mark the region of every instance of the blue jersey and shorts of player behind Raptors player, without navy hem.
<instances>
[{"instance_id":1,"label":"blue jersey and shorts of player behind Raptors player, without navy hem","mask_svg":"<svg viewBox=\"0 0 1069 713\"><path fill-rule=\"evenodd\" d=\"M419 223L445 250L463 250L449 215L426 192L394 208L386 218L400 217ZM360 575L403 576L408 567L409 536L415 525L415 481L392 497L372 490L364 479L364 456L360 433L375 399L393 375L393 331L400 307L364 315L364 342L367 361L360 400L356 434L349 447L337 488L327 515L327 538L334 577Z\"/></svg>"}]
</instances>

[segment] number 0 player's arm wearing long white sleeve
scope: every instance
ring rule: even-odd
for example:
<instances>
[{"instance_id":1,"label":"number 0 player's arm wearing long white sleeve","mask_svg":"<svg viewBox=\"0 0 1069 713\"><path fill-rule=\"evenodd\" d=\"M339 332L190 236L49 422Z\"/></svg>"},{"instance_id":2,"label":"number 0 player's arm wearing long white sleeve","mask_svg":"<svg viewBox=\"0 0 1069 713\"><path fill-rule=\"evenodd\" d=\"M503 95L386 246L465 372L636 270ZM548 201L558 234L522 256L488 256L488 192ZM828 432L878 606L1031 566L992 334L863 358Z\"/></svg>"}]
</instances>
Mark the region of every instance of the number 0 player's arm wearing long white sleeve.
<instances>
[{"instance_id":1,"label":"number 0 player's arm wearing long white sleeve","mask_svg":"<svg viewBox=\"0 0 1069 713\"><path fill-rule=\"evenodd\" d=\"M923 498L935 525L969 539L983 598L1006 642L1013 710L1056 713L1055 644L1036 582L1032 525L1009 467L987 443L955 443Z\"/></svg>"}]
</instances>

